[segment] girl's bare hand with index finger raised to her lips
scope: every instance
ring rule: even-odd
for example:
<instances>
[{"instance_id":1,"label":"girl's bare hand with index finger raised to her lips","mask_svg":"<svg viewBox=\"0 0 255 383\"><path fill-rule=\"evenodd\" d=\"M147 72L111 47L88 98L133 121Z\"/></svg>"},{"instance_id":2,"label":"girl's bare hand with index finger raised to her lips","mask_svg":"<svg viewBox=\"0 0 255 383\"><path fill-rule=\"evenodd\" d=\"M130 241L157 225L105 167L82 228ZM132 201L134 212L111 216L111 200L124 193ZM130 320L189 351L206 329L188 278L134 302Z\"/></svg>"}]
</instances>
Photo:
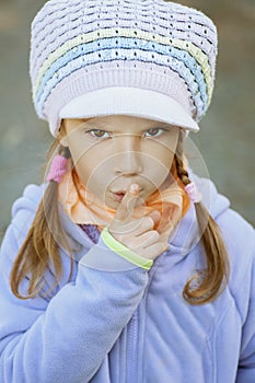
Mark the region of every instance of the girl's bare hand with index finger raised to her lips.
<instances>
[{"instance_id":1,"label":"girl's bare hand with index finger raised to her lips","mask_svg":"<svg viewBox=\"0 0 255 383\"><path fill-rule=\"evenodd\" d=\"M164 234L154 230L161 213L153 210L140 219L131 219L131 213L139 197L139 185L131 184L120 201L108 232L123 245L138 255L154 259L167 247Z\"/></svg>"}]
</instances>

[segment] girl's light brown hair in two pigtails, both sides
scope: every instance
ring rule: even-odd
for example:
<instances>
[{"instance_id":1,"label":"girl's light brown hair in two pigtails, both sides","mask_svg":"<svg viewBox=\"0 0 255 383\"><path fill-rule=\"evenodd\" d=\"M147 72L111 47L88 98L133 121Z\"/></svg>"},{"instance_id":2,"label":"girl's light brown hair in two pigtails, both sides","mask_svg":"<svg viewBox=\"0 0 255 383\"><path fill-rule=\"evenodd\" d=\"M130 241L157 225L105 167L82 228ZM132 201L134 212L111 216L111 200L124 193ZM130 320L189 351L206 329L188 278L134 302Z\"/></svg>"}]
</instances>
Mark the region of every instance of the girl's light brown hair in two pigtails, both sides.
<instances>
[{"instance_id":1,"label":"girl's light brown hair in two pigtails, both sides","mask_svg":"<svg viewBox=\"0 0 255 383\"><path fill-rule=\"evenodd\" d=\"M184 132L181 130L172 167L175 167L178 178L185 186L190 181L183 162L183 140ZM56 139L49 149L47 162L51 160L56 151L65 156L70 155L69 151L59 143L59 139ZM20 299L34 298L42 292L43 276L49 268L49 264L54 266L55 286L58 285L62 275L60 246L66 248L70 256L69 279L71 278L72 254L59 219L57 186L58 184L54 181L49 183L12 267L11 289L13 294ZM218 224L201 202L195 204L195 207L200 229L200 242L205 249L206 268L186 282L183 297L190 304L204 304L215 300L222 292L228 281L229 260ZM30 275L27 294L22 295L19 288L27 275Z\"/></svg>"}]
</instances>

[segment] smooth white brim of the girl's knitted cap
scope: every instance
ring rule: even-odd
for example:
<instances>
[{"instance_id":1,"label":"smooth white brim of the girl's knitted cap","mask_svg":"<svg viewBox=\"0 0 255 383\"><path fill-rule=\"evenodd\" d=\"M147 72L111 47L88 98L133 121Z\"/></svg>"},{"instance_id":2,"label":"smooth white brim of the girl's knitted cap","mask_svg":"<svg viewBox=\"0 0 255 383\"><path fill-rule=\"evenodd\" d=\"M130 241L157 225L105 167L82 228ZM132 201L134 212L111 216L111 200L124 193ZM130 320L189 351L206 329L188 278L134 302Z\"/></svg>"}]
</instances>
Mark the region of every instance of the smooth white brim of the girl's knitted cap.
<instances>
[{"instance_id":1,"label":"smooth white brim of the girl's knitted cap","mask_svg":"<svg viewBox=\"0 0 255 383\"><path fill-rule=\"evenodd\" d=\"M198 131L199 126L174 98L139 88L112 86L72 98L59 112L59 118L92 118L128 115L166 123Z\"/></svg>"}]
</instances>

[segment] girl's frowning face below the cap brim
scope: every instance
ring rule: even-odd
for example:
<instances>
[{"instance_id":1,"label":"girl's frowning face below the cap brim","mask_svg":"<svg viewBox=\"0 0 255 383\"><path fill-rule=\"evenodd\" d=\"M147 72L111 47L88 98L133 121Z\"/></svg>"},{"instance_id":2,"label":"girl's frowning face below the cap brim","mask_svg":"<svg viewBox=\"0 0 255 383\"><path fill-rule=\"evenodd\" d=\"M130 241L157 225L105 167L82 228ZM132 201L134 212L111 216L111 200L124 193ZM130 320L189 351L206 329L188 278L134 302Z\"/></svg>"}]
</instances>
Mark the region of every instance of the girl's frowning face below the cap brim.
<instances>
[{"instance_id":1,"label":"girl's frowning face below the cap brim","mask_svg":"<svg viewBox=\"0 0 255 383\"><path fill-rule=\"evenodd\" d=\"M179 128L126 115L65 119L63 126L61 143L80 179L107 207L117 209L131 183L140 186L140 202L166 185Z\"/></svg>"}]
</instances>

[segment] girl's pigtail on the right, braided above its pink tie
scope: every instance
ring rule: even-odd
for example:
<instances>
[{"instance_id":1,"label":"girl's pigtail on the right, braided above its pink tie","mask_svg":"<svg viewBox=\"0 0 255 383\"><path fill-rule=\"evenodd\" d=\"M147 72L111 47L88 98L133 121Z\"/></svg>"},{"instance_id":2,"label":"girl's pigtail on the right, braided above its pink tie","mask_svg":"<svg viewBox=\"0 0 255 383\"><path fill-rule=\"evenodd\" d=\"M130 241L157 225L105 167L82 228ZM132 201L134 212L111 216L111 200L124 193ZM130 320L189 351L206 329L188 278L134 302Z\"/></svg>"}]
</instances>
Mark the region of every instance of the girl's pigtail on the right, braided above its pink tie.
<instances>
[{"instance_id":1,"label":"girl's pigtail on the right, braided above its pink tie","mask_svg":"<svg viewBox=\"0 0 255 383\"><path fill-rule=\"evenodd\" d=\"M182 131L174 161L177 175L186 186L190 179L183 163L183 139ZM220 228L206 207L202 202L196 202L195 209L207 267L186 282L183 297L190 304L204 304L215 300L222 292L229 278L229 256Z\"/></svg>"}]
</instances>

